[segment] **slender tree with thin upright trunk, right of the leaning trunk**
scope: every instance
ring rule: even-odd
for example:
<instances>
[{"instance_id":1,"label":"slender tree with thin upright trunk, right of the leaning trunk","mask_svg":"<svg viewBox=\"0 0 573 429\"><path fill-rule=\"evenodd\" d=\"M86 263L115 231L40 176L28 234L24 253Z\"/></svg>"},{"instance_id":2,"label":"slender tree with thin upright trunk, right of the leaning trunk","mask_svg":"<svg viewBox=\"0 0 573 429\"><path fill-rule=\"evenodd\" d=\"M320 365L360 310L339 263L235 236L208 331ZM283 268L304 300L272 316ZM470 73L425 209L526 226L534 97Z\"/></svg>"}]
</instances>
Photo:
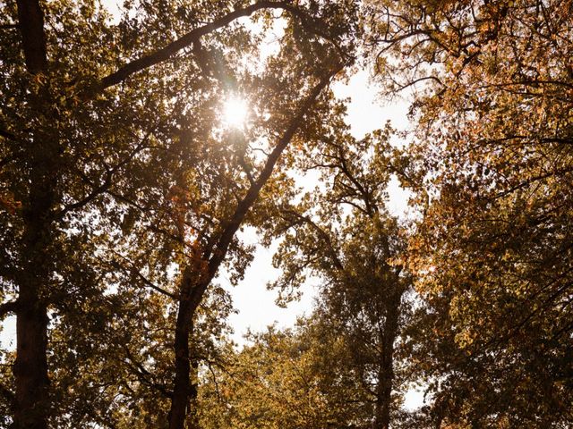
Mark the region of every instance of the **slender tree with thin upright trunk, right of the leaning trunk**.
<instances>
[{"instance_id":1,"label":"slender tree with thin upright trunk, right of the leaning trunk","mask_svg":"<svg viewBox=\"0 0 573 429\"><path fill-rule=\"evenodd\" d=\"M308 273L321 279L317 317L344 339L350 359L339 365L350 366L362 383L373 427L389 428L398 410L396 348L412 298L403 269L405 231L385 207L390 130L355 141L341 116L338 121L300 158L305 171L321 172L322 185L298 206L277 208L273 231L284 240L275 257L283 275L275 286L288 293Z\"/></svg>"}]
</instances>

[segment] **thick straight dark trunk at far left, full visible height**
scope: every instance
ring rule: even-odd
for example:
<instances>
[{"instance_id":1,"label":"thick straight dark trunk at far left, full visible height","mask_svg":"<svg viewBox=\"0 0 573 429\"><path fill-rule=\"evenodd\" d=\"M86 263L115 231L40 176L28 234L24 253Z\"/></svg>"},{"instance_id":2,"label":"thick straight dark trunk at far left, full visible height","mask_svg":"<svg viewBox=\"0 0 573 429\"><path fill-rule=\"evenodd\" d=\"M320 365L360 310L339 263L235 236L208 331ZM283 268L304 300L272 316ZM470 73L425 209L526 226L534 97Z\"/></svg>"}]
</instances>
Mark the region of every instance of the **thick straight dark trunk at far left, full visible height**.
<instances>
[{"instance_id":1,"label":"thick straight dark trunk at far left, full visible height","mask_svg":"<svg viewBox=\"0 0 573 429\"><path fill-rule=\"evenodd\" d=\"M22 50L30 74L47 71L44 13L38 0L18 0ZM38 111L46 100L32 95ZM51 211L56 189L57 145L38 134L30 147L30 190L22 207L24 231L21 267L16 273L16 394L13 423L17 429L46 429L50 403L47 374L47 303L44 290L51 273L49 250L53 240Z\"/></svg>"}]
</instances>

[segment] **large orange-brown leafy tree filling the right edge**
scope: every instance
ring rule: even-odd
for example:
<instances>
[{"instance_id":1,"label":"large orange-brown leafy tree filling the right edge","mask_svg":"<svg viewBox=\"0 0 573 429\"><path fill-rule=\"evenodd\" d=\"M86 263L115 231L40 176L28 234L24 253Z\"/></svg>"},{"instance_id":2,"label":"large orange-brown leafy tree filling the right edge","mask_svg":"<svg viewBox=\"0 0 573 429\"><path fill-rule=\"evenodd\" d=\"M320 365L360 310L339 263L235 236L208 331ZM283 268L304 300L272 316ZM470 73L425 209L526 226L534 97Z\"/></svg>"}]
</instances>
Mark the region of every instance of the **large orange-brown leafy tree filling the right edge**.
<instances>
[{"instance_id":1,"label":"large orange-brown leafy tree filling the right edge","mask_svg":"<svg viewBox=\"0 0 573 429\"><path fill-rule=\"evenodd\" d=\"M434 424L564 427L571 4L372 7L381 80L417 89L402 180L424 214L410 264L427 305L418 327Z\"/></svg>"}]
</instances>

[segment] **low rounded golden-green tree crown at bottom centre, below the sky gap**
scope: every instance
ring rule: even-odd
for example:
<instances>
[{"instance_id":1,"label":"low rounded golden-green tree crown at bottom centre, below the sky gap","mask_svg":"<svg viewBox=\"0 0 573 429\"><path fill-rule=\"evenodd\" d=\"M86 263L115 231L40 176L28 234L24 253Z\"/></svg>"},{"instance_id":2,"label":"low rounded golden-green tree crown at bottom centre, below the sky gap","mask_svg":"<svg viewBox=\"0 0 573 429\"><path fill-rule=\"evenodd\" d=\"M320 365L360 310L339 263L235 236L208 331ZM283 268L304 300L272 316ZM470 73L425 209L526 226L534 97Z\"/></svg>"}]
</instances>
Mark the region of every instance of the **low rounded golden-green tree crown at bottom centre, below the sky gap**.
<instances>
[{"instance_id":1,"label":"low rounded golden-green tree crown at bottom centre, below the sky gap","mask_svg":"<svg viewBox=\"0 0 573 429\"><path fill-rule=\"evenodd\" d=\"M356 427L370 415L348 347L314 316L295 329L252 334L202 374L201 427Z\"/></svg>"}]
</instances>

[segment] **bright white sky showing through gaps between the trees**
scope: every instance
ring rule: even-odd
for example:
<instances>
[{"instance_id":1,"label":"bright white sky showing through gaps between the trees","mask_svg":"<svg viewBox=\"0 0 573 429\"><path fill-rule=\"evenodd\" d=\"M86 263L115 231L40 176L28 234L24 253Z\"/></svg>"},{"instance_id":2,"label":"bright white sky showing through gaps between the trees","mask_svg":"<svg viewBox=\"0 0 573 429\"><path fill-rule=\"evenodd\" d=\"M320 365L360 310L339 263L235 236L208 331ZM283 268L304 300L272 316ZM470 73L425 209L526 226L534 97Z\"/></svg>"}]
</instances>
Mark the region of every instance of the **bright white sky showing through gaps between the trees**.
<instances>
[{"instance_id":1,"label":"bright white sky showing through gaps between the trees","mask_svg":"<svg viewBox=\"0 0 573 429\"><path fill-rule=\"evenodd\" d=\"M103 0L103 4L112 13L117 13L115 0ZM263 55L269 55L276 49L276 41L281 33L280 26L274 29L264 42ZM337 97L350 98L347 108L346 123L350 125L351 132L356 139L363 138L364 134L382 128L387 121L398 130L408 127L406 101L397 101L384 104L378 97L378 90L369 81L367 71L358 71L347 83L335 83L334 92ZM389 183L390 214L404 216L407 211L408 193L400 189L398 180ZM243 240L257 244L258 238L252 229L244 231ZM219 273L218 282L229 290L236 313L229 318L229 324L234 329L233 340L239 344L244 343L244 334L248 330L258 332L271 324L279 327L288 327L295 324L300 315L309 314L312 310L312 301L316 296L317 279L310 280L301 288L303 296L300 300L289 304L286 308L275 304L277 292L267 290L267 284L278 277L278 270L272 267L271 260L273 247L257 246L252 264L246 270L244 280L232 287L227 280L226 273ZM4 320L3 332L0 332L0 345L5 348L15 348L15 320L9 317ZM406 408L416 408L421 405L423 394L414 389L406 394Z\"/></svg>"}]
</instances>

